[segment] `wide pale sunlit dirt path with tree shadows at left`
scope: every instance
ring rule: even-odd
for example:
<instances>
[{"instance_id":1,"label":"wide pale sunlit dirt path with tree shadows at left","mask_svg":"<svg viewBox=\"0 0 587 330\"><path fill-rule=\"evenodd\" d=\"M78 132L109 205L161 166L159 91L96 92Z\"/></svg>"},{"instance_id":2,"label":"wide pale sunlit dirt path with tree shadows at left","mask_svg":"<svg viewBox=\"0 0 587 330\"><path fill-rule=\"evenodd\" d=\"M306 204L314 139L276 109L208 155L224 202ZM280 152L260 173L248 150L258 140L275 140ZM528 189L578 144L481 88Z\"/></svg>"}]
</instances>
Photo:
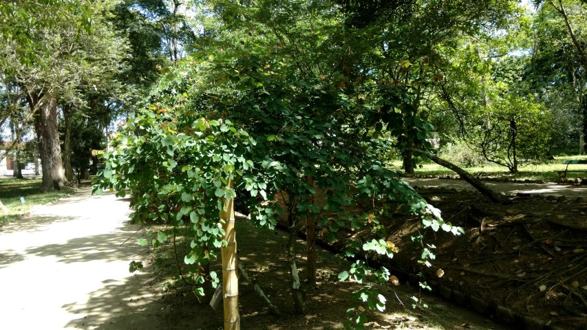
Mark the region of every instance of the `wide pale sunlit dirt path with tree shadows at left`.
<instances>
[{"instance_id":1,"label":"wide pale sunlit dirt path with tree shadows at left","mask_svg":"<svg viewBox=\"0 0 587 330\"><path fill-rule=\"evenodd\" d=\"M89 188L0 229L0 328L161 329L128 272L142 251L127 201ZM123 244L124 243L124 244Z\"/></svg>"}]
</instances>

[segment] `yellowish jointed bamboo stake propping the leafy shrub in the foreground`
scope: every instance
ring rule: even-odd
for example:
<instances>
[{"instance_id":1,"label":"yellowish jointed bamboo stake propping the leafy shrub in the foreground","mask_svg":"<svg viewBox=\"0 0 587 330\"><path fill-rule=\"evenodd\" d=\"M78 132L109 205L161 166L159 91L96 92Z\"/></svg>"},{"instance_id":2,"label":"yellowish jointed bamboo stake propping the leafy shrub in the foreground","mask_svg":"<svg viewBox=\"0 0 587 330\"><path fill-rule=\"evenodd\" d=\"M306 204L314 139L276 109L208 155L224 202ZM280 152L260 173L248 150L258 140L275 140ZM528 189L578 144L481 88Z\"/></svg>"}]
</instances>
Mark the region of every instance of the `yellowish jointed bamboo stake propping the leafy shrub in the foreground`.
<instances>
[{"instance_id":1,"label":"yellowish jointed bamboo stake propping the leafy shrub in the foreground","mask_svg":"<svg viewBox=\"0 0 587 330\"><path fill-rule=\"evenodd\" d=\"M228 179L228 188L233 188L232 179ZM220 211L220 222L224 229L224 240L227 243L226 246L220 248L220 253L222 254L224 330L240 330L237 241L233 198L224 201L224 210Z\"/></svg>"}]
</instances>

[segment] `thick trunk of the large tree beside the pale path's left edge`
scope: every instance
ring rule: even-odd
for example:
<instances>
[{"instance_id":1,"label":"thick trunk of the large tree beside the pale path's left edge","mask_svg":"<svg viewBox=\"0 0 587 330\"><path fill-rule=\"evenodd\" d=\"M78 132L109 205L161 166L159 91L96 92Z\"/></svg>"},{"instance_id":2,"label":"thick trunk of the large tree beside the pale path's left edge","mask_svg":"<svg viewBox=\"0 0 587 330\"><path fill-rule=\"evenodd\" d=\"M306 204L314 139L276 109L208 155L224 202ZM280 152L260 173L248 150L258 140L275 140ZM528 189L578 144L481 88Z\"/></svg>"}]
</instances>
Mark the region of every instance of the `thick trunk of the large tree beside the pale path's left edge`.
<instances>
[{"instance_id":1,"label":"thick trunk of the large tree beside the pale path's left edge","mask_svg":"<svg viewBox=\"0 0 587 330\"><path fill-rule=\"evenodd\" d=\"M32 104L36 106L36 104ZM63 161L61 160L61 146L59 145L59 131L57 127L57 97L54 93L46 95L43 103L39 104L40 120L37 131L39 136L39 152L41 153L41 166L43 167L43 183L41 191L61 190L65 187L67 179L63 174Z\"/></svg>"}]
</instances>

